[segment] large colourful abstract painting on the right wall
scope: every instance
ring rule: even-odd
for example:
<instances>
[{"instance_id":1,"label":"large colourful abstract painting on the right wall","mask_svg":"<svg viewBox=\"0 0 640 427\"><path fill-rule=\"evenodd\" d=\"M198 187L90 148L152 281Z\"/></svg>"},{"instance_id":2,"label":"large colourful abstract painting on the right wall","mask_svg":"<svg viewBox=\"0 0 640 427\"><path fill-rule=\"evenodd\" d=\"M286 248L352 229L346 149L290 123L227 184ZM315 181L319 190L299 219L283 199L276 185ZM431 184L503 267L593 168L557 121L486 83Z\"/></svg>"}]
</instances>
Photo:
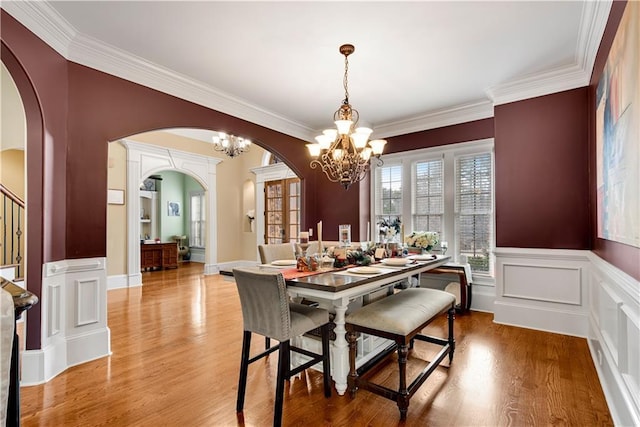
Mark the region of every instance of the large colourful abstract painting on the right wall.
<instances>
[{"instance_id":1,"label":"large colourful abstract painting on the right wall","mask_svg":"<svg viewBox=\"0 0 640 427\"><path fill-rule=\"evenodd\" d=\"M640 247L640 3L629 2L596 91L598 237Z\"/></svg>"}]
</instances>

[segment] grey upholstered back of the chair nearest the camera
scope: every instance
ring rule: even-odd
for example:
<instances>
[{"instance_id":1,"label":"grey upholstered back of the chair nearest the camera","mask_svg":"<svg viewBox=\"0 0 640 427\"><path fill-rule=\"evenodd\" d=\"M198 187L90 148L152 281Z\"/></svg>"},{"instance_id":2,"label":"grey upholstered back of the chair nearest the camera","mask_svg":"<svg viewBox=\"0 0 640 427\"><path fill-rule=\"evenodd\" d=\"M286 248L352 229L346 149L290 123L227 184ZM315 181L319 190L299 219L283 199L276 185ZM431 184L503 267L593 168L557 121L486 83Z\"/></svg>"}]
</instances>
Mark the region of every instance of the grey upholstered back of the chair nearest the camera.
<instances>
[{"instance_id":1,"label":"grey upholstered back of the chair nearest the camera","mask_svg":"<svg viewBox=\"0 0 640 427\"><path fill-rule=\"evenodd\" d=\"M291 338L289 296L279 271L234 268L244 330L286 341Z\"/></svg>"}]
</instances>

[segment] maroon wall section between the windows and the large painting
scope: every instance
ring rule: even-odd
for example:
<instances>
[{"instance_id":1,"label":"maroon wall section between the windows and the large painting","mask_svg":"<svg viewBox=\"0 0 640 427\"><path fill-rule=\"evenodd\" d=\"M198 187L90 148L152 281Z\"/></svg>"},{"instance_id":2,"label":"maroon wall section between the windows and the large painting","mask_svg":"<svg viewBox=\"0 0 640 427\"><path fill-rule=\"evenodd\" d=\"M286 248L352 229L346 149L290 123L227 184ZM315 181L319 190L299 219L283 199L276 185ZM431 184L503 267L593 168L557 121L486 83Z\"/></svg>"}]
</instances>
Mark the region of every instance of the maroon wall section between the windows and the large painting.
<instances>
[{"instance_id":1,"label":"maroon wall section between the windows and the large painting","mask_svg":"<svg viewBox=\"0 0 640 427\"><path fill-rule=\"evenodd\" d=\"M589 249L587 89L496 106L496 246Z\"/></svg>"}]
</instances>

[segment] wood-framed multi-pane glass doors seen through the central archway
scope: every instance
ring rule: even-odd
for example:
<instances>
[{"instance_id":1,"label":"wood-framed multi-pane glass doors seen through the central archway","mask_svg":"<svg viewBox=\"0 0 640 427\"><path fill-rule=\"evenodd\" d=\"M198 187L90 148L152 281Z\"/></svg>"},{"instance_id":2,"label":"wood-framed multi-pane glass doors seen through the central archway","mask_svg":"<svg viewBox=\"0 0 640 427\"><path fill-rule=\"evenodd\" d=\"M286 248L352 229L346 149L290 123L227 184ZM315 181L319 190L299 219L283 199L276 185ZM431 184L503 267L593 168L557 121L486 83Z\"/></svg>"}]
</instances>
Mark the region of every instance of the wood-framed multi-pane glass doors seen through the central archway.
<instances>
[{"instance_id":1,"label":"wood-framed multi-pane glass doors seen through the central archway","mask_svg":"<svg viewBox=\"0 0 640 427\"><path fill-rule=\"evenodd\" d=\"M297 241L300 234L300 179L265 182L265 242Z\"/></svg>"}]
</instances>

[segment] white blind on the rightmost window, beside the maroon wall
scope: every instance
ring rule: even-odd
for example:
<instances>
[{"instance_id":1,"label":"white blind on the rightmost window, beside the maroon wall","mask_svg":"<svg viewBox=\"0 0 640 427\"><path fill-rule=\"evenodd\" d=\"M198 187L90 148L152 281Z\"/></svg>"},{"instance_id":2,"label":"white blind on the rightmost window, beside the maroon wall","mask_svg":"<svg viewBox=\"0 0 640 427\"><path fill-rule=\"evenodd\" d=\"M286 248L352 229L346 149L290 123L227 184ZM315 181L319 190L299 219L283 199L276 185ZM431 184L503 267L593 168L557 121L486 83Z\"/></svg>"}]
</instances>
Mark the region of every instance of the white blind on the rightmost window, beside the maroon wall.
<instances>
[{"instance_id":1,"label":"white blind on the rightmost window, beside the maroon wall","mask_svg":"<svg viewBox=\"0 0 640 427\"><path fill-rule=\"evenodd\" d=\"M490 273L493 241L493 165L491 153L456 158L456 235L471 269Z\"/></svg>"}]
</instances>

